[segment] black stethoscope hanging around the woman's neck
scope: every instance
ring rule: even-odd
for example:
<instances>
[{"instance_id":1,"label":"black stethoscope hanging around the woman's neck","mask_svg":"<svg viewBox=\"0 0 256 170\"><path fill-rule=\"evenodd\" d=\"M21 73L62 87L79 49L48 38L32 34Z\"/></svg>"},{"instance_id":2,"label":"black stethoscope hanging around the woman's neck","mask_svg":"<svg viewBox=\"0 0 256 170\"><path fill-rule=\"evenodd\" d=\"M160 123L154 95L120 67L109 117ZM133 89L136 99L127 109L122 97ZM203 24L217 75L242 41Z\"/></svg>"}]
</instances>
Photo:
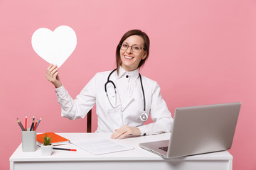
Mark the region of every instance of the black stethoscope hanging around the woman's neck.
<instances>
[{"instance_id":1,"label":"black stethoscope hanging around the woman's neck","mask_svg":"<svg viewBox=\"0 0 256 170\"><path fill-rule=\"evenodd\" d=\"M106 95L107 95L107 99L108 99L108 101L110 102L110 98L109 98L109 96L108 96L108 94L107 94L107 84L112 84L113 85L113 87L114 87L114 95L115 95L115 102L114 102L114 106L112 105L112 103L110 102L110 105L112 106L112 108L116 108L117 107L117 90L116 90L116 86L115 86L115 84L114 84L114 82L113 81L111 81L110 80L110 76L111 76L111 74L114 72L114 71L116 71L117 69L114 69L112 72L110 72L110 74L109 74L109 76L107 77L107 82L105 83L105 92L106 92ZM141 76L141 74L139 74L139 79L140 79L140 81L141 81L141 85L142 85L142 76ZM142 94L143 94L143 101L144 101L144 110L143 110L143 113L139 116L139 118L140 118L140 120L142 120L142 121L146 121L146 120L148 120L148 118L149 118L149 116L146 114L146 99L145 99L145 94L144 94L144 89L143 89L143 85L142 85Z\"/></svg>"}]
</instances>

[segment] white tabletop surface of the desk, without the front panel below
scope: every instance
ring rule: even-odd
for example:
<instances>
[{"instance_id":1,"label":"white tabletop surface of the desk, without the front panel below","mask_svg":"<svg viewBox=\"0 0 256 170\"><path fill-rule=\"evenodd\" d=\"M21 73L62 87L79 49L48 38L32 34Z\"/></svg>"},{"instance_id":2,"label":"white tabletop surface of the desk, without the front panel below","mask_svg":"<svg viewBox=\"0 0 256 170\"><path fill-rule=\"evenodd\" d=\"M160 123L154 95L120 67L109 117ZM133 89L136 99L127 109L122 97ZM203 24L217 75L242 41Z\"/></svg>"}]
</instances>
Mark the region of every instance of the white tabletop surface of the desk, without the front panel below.
<instances>
[{"instance_id":1,"label":"white tabletop surface of the desk, without the front panel below","mask_svg":"<svg viewBox=\"0 0 256 170\"><path fill-rule=\"evenodd\" d=\"M72 140L77 140L81 138L110 138L111 134L107 133L58 133L59 135L68 138L71 142ZM10 162L61 162L61 161L166 161L162 157L156 154L146 151L139 147L139 143L151 142L157 140L169 140L170 133L163 133L159 135L149 135L141 137L129 137L123 140L117 140L118 142L134 147L134 149L124 152L115 152L110 154L94 155L89 152L77 147L73 144L61 145L58 147L77 149L77 152L53 150L51 156L42 156L41 148L37 147L36 152L22 152L22 146L19 145L14 154L10 157ZM181 157L171 160L233 160L233 156L228 152L215 152L210 154L198 154L190 157Z\"/></svg>"}]
</instances>

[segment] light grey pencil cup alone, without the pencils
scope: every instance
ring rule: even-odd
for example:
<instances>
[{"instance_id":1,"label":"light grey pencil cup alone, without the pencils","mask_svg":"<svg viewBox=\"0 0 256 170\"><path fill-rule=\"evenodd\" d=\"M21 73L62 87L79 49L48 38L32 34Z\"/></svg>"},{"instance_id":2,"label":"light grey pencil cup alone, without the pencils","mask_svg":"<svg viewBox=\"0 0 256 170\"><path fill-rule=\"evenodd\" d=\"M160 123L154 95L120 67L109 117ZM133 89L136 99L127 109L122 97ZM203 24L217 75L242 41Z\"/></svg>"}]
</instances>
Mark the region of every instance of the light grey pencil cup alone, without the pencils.
<instances>
[{"instance_id":1,"label":"light grey pencil cup alone, without the pencils","mask_svg":"<svg viewBox=\"0 0 256 170\"><path fill-rule=\"evenodd\" d=\"M36 130L22 131L22 151L23 152L36 151Z\"/></svg>"}]
</instances>

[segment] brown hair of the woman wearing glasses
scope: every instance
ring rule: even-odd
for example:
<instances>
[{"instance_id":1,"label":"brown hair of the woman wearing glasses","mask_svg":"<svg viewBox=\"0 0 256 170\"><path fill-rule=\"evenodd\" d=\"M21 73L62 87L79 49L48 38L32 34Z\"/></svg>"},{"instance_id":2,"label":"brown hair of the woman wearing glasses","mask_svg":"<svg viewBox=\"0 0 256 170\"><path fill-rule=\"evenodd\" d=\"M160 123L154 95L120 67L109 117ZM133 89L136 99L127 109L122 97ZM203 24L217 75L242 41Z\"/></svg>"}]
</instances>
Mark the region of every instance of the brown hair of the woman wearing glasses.
<instances>
[{"instance_id":1,"label":"brown hair of the woman wearing glasses","mask_svg":"<svg viewBox=\"0 0 256 170\"><path fill-rule=\"evenodd\" d=\"M116 50L117 74L119 73L119 67L121 64L120 47L122 45L122 42L124 42L124 40L126 40L127 38L129 38L129 36L132 36L132 35L139 35L144 40L144 50L146 51L146 58L144 60L142 60L141 62L139 62L138 67L142 67L142 65L144 65L144 63L146 62L146 59L149 57L149 37L148 37L148 35L146 35L146 33L142 32L142 30L127 31L127 33L125 33L122 36L121 40L119 41L119 43L117 45L117 50Z\"/></svg>"}]
</instances>

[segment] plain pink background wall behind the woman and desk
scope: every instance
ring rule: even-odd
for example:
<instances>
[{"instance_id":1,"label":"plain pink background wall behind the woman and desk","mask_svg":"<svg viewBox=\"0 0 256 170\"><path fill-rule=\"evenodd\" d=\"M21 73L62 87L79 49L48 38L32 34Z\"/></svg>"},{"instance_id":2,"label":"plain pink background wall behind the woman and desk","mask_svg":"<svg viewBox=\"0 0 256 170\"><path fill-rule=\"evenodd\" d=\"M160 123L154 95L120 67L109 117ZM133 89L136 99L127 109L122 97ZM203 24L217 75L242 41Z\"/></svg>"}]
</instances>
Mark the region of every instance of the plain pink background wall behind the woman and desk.
<instances>
[{"instance_id":1,"label":"plain pink background wall behind the woman and desk","mask_svg":"<svg viewBox=\"0 0 256 170\"><path fill-rule=\"evenodd\" d=\"M256 169L256 2L252 0L0 1L0 169L21 143L20 118L42 117L38 132L85 132L86 120L61 118L48 63L31 46L38 28L70 26L78 36L60 79L75 98L96 72L114 69L130 29L151 39L142 74L161 86L169 110L241 101L233 169ZM97 128L93 116L93 128Z\"/></svg>"}]
</instances>

